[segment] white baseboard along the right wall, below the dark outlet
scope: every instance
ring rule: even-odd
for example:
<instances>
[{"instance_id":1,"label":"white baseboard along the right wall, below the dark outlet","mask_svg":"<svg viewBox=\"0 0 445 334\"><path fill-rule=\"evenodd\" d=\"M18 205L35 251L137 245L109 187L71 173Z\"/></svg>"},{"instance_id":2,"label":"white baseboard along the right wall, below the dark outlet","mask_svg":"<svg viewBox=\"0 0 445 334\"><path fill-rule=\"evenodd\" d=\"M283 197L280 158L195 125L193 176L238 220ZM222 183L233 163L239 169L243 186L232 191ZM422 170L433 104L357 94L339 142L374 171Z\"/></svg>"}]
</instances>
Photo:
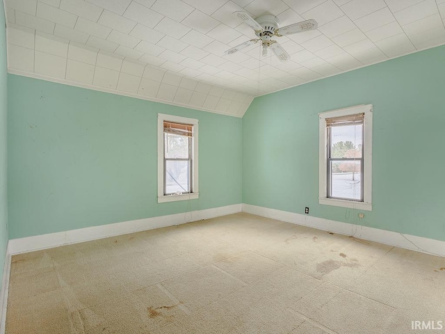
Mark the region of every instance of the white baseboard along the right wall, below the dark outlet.
<instances>
[{"instance_id":1,"label":"white baseboard along the right wall, below the dark outlet","mask_svg":"<svg viewBox=\"0 0 445 334\"><path fill-rule=\"evenodd\" d=\"M416 237L415 235L380 230L378 228L369 228L362 225L330 221L324 218L269 209L267 207L258 207L256 205L243 204L243 212L273 218L279 221L286 221L297 225L308 226L318 230L354 236L359 239L376 241L380 242L380 244L387 244L389 246L416 250L421 253L445 256L445 241Z\"/></svg>"}]
</instances>

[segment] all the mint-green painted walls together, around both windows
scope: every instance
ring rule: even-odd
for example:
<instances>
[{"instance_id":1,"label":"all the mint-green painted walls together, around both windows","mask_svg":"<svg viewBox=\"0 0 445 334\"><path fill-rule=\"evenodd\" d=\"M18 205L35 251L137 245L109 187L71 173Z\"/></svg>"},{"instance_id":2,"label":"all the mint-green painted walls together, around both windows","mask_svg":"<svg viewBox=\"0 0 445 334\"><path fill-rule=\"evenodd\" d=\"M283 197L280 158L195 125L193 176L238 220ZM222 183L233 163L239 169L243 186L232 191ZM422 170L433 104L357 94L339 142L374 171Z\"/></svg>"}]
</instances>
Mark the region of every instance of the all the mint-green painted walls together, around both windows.
<instances>
[{"instance_id":1,"label":"all the mint-green painted walls together, around both windows","mask_svg":"<svg viewBox=\"0 0 445 334\"><path fill-rule=\"evenodd\" d=\"M7 217L13 239L241 202L445 240L444 59L436 47L257 97L243 120L9 74L0 249ZM357 104L374 106L362 219L318 204L318 113ZM156 201L157 113L200 120L199 200Z\"/></svg>"}]
</instances>

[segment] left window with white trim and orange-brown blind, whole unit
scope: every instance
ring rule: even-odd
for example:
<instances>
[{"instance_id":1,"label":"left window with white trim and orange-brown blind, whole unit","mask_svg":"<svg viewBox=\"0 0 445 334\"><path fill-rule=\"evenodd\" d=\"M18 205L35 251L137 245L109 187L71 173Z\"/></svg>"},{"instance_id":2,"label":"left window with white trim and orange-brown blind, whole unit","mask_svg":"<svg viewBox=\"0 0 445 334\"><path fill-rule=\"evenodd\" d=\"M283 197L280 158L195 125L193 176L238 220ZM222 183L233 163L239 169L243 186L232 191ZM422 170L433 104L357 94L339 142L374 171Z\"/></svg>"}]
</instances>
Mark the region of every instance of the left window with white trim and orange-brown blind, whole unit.
<instances>
[{"instance_id":1,"label":"left window with white trim and orange-brown blind, whole unit","mask_svg":"<svg viewBox=\"0 0 445 334\"><path fill-rule=\"evenodd\" d=\"M158 202L199 197L197 125L192 118L158 114Z\"/></svg>"}]
</instances>

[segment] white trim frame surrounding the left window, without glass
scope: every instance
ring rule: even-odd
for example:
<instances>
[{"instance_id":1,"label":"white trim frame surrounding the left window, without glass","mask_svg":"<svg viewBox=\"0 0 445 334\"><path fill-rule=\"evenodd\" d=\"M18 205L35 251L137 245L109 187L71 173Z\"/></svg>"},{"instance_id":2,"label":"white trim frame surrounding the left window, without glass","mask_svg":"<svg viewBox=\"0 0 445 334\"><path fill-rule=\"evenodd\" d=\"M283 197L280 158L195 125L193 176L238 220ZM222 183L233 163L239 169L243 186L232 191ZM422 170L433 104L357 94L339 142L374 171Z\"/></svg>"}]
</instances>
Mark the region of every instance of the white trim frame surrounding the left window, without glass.
<instances>
[{"instance_id":1,"label":"white trim frame surrounding the left window, without glass","mask_svg":"<svg viewBox=\"0 0 445 334\"><path fill-rule=\"evenodd\" d=\"M180 195L164 195L164 120L193 125L192 141L192 191ZM158 203L177 200L195 200L200 197L198 190L198 120L158 113Z\"/></svg>"}]
</instances>

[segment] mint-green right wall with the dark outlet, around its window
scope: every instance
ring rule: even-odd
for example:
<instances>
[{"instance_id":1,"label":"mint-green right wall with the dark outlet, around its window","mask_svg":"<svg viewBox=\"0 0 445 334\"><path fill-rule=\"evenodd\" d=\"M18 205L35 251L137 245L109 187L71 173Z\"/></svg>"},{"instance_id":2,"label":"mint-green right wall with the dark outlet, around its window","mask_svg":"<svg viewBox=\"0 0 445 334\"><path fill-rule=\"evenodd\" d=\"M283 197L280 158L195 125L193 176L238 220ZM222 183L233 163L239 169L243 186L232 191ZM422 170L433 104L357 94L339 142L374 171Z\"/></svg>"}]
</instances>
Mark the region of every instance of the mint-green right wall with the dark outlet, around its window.
<instances>
[{"instance_id":1,"label":"mint-green right wall with the dark outlet, around its window","mask_svg":"<svg viewBox=\"0 0 445 334\"><path fill-rule=\"evenodd\" d=\"M445 46L254 99L243 202L445 240ZM373 104L373 210L318 204L318 113Z\"/></svg>"}]
</instances>

